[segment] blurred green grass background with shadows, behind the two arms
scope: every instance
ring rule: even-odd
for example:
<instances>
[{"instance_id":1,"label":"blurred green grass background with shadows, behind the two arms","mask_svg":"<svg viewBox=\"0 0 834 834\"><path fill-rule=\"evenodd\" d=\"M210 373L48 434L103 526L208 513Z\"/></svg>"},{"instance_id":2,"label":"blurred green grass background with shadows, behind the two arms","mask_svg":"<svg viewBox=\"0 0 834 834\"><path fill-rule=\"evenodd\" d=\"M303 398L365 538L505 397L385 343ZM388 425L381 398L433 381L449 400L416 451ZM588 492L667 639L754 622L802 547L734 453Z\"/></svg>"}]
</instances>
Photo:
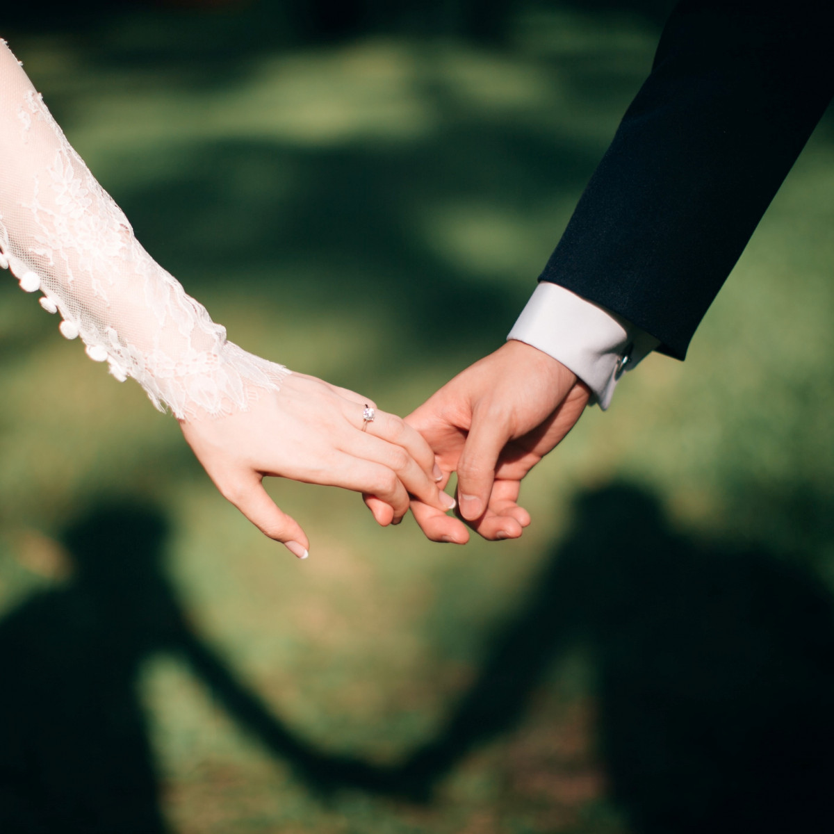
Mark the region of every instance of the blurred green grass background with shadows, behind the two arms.
<instances>
[{"instance_id":1,"label":"blurred green grass background with shadows, behind the two arms","mask_svg":"<svg viewBox=\"0 0 834 834\"><path fill-rule=\"evenodd\" d=\"M39 4L3 35L231 339L406 413L501 344L670 6ZM834 825L830 117L686 365L585 415L518 541L275 482L296 562L8 279L4 830Z\"/></svg>"}]
</instances>

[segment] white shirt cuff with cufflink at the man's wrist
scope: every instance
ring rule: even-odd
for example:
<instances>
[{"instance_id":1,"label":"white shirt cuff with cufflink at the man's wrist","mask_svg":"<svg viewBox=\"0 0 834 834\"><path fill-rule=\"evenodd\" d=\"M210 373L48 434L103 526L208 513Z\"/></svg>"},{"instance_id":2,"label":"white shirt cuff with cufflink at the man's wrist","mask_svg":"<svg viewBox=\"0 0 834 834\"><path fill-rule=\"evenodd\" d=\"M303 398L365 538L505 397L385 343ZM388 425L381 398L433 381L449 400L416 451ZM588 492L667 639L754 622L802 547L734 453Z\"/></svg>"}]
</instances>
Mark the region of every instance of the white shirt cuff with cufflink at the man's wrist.
<instances>
[{"instance_id":1,"label":"white shirt cuff with cufflink at the man's wrist","mask_svg":"<svg viewBox=\"0 0 834 834\"><path fill-rule=\"evenodd\" d=\"M558 359L591 389L603 410L623 372L660 344L645 330L550 281L535 288L507 339Z\"/></svg>"}]
</instances>

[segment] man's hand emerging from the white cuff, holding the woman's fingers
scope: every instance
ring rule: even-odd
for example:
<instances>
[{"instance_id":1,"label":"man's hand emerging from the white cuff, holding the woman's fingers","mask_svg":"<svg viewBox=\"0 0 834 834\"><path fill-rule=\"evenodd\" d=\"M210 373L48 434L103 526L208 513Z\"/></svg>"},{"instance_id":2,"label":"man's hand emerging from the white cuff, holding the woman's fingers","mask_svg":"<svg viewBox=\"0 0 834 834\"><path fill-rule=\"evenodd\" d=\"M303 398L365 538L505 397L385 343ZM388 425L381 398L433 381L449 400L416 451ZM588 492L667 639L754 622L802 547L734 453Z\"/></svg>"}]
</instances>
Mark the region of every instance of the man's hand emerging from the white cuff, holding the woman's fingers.
<instances>
[{"instance_id":1,"label":"man's hand emerging from the white cuff, holding the woman's fingers","mask_svg":"<svg viewBox=\"0 0 834 834\"><path fill-rule=\"evenodd\" d=\"M445 384L405 418L425 437L445 487L458 475L461 518L485 539L515 539L530 524L518 505L521 479L567 435L590 390L565 365L509 341ZM414 518L434 541L463 545L460 520L419 500Z\"/></svg>"}]
</instances>

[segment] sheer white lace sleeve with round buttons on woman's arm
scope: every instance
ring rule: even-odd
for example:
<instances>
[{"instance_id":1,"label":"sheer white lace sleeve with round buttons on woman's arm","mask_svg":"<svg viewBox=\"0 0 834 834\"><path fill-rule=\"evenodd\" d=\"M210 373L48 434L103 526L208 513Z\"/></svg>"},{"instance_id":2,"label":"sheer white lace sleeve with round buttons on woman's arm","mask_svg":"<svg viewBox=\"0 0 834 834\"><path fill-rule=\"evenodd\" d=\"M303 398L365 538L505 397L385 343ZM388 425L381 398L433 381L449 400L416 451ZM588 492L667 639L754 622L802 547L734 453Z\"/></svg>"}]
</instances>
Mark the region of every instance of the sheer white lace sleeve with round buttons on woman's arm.
<instances>
[{"instance_id":1,"label":"sheer white lace sleeve with round buttons on woman's arm","mask_svg":"<svg viewBox=\"0 0 834 834\"><path fill-rule=\"evenodd\" d=\"M179 419L246 409L289 370L248 354L138 243L0 42L0 266L90 359Z\"/></svg>"}]
</instances>

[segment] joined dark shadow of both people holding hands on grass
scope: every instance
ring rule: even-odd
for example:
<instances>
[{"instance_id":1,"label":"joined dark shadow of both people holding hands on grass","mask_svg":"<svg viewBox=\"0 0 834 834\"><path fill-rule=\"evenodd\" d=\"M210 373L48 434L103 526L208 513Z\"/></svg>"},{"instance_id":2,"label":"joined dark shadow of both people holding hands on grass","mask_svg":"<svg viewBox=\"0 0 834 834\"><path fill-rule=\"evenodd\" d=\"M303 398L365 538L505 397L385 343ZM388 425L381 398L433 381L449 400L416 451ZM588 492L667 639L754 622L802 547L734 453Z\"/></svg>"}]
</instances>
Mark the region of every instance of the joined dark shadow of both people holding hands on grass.
<instances>
[{"instance_id":1,"label":"joined dark shadow of both people holding hands on grass","mask_svg":"<svg viewBox=\"0 0 834 834\"><path fill-rule=\"evenodd\" d=\"M99 506L65 536L73 579L0 622L0 830L166 831L137 692L159 652L183 658L314 791L429 802L470 751L516 726L577 645L632 831L834 828L831 595L779 555L681 535L634 485L581 495L573 517L436 736L382 767L310 746L193 633L165 578L157 510Z\"/></svg>"}]
</instances>

